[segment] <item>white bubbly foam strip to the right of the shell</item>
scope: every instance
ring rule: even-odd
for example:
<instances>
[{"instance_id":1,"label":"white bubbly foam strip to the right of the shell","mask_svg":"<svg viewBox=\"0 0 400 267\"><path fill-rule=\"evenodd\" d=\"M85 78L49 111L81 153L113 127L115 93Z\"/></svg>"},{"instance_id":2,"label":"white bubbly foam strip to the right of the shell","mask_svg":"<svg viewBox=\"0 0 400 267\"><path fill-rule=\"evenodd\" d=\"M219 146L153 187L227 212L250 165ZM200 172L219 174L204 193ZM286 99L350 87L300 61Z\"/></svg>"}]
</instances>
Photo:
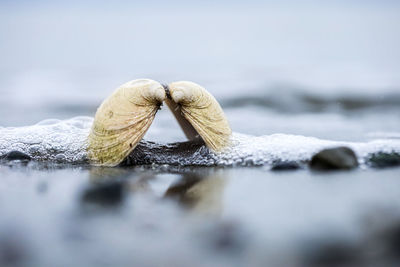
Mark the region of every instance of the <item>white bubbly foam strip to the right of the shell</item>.
<instances>
[{"instance_id":1,"label":"white bubbly foam strip to the right of the shell","mask_svg":"<svg viewBox=\"0 0 400 267\"><path fill-rule=\"evenodd\" d=\"M369 142L341 142L322 140L301 135L272 134L250 136L239 133L233 135L234 146L221 154L221 165L266 165L274 161L306 161L324 148L348 146L358 156L360 163L372 153L400 152L400 140L377 139Z\"/></svg>"}]
</instances>

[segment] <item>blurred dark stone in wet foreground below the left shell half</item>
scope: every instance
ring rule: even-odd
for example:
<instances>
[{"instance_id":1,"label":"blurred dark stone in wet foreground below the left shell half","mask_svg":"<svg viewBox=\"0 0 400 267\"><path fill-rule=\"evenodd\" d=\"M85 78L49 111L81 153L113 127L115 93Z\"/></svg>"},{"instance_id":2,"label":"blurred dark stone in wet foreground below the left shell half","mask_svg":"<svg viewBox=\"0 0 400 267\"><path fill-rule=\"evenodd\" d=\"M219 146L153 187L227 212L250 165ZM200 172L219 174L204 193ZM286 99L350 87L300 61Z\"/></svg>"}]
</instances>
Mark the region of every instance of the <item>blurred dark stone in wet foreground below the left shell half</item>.
<instances>
[{"instance_id":1,"label":"blurred dark stone in wet foreground below the left shell half","mask_svg":"<svg viewBox=\"0 0 400 267\"><path fill-rule=\"evenodd\" d=\"M124 195L125 184L123 182L105 182L87 188L81 196L81 201L100 206L115 206L122 203Z\"/></svg>"}]
</instances>

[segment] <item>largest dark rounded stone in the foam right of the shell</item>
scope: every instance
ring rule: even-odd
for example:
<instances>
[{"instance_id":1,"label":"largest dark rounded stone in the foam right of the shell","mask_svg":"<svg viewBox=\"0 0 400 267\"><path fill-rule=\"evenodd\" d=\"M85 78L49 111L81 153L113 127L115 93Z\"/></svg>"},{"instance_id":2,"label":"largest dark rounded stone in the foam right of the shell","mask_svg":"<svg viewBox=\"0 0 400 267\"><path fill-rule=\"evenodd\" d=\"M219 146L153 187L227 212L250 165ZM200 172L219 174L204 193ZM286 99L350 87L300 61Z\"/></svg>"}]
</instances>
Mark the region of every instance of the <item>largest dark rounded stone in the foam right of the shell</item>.
<instances>
[{"instance_id":1,"label":"largest dark rounded stone in the foam right of the shell","mask_svg":"<svg viewBox=\"0 0 400 267\"><path fill-rule=\"evenodd\" d=\"M309 166L314 170L350 170L358 166L356 154L348 147L324 149L315 154Z\"/></svg>"}]
</instances>

